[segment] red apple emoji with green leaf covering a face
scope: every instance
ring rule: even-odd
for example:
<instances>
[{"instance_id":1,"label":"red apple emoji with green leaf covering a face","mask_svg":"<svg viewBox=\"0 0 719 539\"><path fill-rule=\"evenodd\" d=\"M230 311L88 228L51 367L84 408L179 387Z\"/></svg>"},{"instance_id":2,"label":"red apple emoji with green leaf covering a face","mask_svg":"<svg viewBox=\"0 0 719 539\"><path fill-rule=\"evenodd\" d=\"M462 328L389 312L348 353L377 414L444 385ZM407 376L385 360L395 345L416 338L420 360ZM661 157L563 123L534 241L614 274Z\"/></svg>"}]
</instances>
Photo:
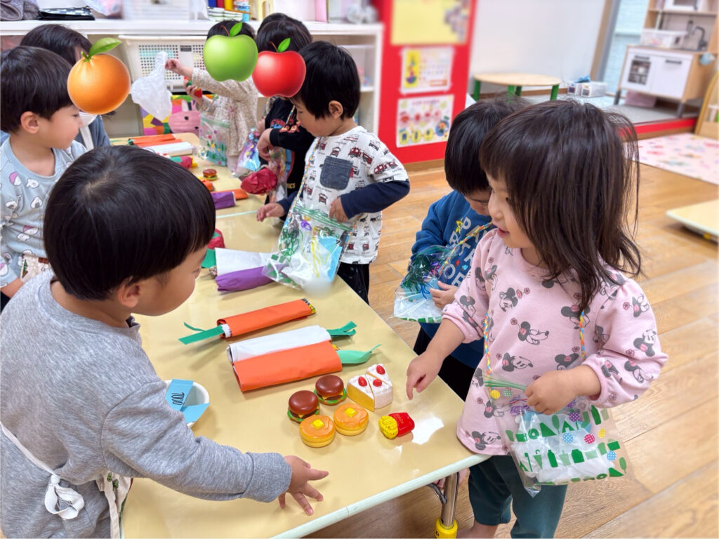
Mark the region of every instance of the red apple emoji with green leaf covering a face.
<instances>
[{"instance_id":1,"label":"red apple emoji with green leaf covering a face","mask_svg":"<svg viewBox=\"0 0 719 539\"><path fill-rule=\"evenodd\" d=\"M305 80L305 60L298 52L287 50L290 38L280 43L277 52L263 50L252 72L257 91L265 97L292 97Z\"/></svg>"}]
</instances>

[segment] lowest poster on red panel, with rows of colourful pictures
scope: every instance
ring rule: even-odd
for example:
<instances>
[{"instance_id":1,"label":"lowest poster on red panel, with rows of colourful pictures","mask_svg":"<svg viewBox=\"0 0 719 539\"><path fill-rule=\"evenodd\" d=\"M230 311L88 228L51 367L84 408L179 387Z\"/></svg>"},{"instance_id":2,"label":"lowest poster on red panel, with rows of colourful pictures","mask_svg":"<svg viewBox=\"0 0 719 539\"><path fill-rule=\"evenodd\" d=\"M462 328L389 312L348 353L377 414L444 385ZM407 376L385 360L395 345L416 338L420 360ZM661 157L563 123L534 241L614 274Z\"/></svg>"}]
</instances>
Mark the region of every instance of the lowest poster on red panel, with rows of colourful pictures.
<instances>
[{"instance_id":1,"label":"lowest poster on red panel, with rows of colourful pictures","mask_svg":"<svg viewBox=\"0 0 719 539\"><path fill-rule=\"evenodd\" d=\"M397 106L397 147L446 142L454 96L402 98Z\"/></svg>"}]
</instances>

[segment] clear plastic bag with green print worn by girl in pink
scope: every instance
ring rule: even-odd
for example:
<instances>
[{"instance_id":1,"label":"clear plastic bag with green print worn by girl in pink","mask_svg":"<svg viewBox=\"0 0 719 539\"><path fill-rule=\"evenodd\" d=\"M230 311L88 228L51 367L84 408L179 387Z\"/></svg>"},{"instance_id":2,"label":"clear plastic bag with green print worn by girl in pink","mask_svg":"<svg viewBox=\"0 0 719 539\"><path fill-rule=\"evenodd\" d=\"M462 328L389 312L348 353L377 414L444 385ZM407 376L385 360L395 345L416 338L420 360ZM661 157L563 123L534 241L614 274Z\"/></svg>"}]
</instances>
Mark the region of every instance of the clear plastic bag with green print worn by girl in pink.
<instances>
[{"instance_id":1,"label":"clear plastic bag with green print worn by girl in pink","mask_svg":"<svg viewBox=\"0 0 719 539\"><path fill-rule=\"evenodd\" d=\"M607 408L577 397L557 413L536 413L526 386L485 377L503 443L529 494L541 485L600 481L631 473L626 447ZM630 475L631 476L631 475Z\"/></svg>"}]
</instances>

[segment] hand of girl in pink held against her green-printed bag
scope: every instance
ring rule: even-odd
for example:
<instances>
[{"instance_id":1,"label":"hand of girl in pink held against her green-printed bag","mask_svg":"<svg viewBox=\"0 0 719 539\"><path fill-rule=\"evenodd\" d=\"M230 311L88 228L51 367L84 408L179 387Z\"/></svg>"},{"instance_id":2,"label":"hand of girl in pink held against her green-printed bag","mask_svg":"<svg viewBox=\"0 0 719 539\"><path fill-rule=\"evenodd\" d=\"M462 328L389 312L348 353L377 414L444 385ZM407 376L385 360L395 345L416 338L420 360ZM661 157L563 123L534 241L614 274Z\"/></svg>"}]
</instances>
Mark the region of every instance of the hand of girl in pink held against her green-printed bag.
<instances>
[{"instance_id":1,"label":"hand of girl in pink held against her green-printed bag","mask_svg":"<svg viewBox=\"0 0 719 539\"><path fill-rule=\"evenodd\" d=\"M580 365L565 371L547 371L527 386L527 404L539 413L562 410L577 395L598 395L602 390L595 372Z\"/></svg>"}]
</instances>

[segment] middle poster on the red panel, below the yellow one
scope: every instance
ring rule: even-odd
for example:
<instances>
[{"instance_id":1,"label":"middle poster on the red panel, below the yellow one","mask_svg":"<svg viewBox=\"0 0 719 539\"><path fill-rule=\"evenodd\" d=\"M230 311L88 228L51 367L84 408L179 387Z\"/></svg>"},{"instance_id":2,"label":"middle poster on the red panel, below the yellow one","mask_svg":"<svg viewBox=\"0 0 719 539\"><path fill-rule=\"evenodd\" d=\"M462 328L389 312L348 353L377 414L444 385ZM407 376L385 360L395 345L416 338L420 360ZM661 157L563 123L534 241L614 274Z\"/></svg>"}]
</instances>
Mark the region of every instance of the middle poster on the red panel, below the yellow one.
<instances>
[{"instance_id":1,"label":"middle poster on the red panel, below the yellow one","mask_svg":"<svg viewBox=\"0 0 719 539\"><path fill-rule=\"evenodd\" d=\"M444 92L452 86L454 47L406 47L401 93Z\"/></svg>"}]
</instances>

